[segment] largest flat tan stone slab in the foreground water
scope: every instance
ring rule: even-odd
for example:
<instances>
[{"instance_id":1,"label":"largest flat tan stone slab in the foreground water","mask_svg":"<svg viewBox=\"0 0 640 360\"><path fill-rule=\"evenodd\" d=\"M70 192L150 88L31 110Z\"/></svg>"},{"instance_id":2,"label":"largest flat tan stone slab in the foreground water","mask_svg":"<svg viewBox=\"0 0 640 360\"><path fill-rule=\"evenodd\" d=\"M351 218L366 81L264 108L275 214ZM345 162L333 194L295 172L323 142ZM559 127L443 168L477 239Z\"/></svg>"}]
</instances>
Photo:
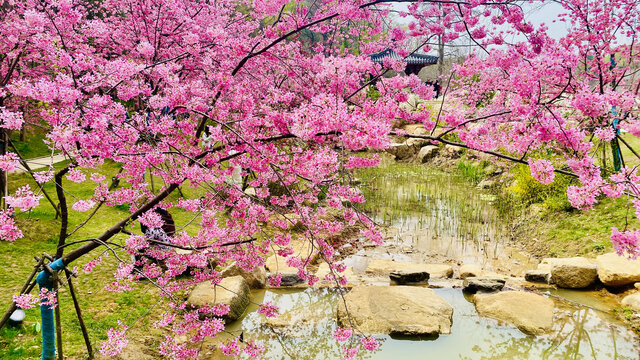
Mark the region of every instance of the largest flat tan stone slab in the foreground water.
<instances>
[{"instance_id":1,"label":"largest flat tan stone slab in the foreground water","mask_svg":"<svg viewBox=\"0 0 640 360\"><path fill-rule=\"evenodd\" d=\"M345 295L344 300L338 303L341 326L355 326L367 334L438 335L451 332L453 308L428 288L359 286Z\"/></svg>"}]
</instances>

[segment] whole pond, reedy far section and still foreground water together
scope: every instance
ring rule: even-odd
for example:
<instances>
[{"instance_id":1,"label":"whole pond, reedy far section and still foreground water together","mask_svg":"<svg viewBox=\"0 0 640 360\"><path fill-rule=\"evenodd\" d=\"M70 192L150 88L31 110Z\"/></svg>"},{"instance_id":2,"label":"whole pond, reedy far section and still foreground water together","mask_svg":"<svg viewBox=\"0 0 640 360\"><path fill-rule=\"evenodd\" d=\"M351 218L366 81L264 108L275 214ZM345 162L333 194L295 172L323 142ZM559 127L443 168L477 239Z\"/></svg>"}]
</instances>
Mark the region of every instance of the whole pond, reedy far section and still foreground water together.
<instances>
[{"instance_id":1,"label":"whole pond, reedy far section and still foreground water together","mask_svg":"<svg viewBox=\"0 0 640 360\"><path fill-rule=\"evenodd\" d=\"M491 196L463 179L420 165L385 161L360 174L365 209L387 231L384 248L362 249L347 259L363 272L371 258L432 262L454 259L519 275L536 262L509 245L510 234ZM391 250L390 250L391 249ZM332 337L339 289L268 289L253 302L271 301L282 315L267 320L251 305L228 330L266 346L265 359L341 359L344 346ZM434 289L453 308L450 335L377 336L382 346L359 359L640 359L640 340L609 312L615 306L595 292L549 290L553 331L535 337L478 316L469 295L453 287ZM355 341L355 340L354 340ZM351 344L352 346L355 343Z\"/></svg>"}]
</instances>

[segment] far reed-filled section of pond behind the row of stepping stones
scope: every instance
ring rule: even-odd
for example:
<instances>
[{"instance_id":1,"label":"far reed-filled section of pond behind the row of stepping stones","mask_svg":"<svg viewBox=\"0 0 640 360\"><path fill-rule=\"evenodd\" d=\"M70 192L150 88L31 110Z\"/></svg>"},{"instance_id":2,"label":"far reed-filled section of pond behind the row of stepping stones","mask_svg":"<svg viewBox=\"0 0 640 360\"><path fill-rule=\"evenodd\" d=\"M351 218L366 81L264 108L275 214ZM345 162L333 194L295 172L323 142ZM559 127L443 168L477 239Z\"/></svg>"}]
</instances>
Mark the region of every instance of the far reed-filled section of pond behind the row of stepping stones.
<instances>
[{"instance_id":1,"label":"far reed-filled section of pond behind the row of stepping stones","mask_svg":"<svg viewBox=\"0 0 640 360\"><path fill-rule=\"evenodd\" d=\"M365 210L399 247L522 274L530 259L508 246L510 233L492 196L464 179L417 164L385 159L363 171ZM506 265L506 264L505 264Z\"/></svg>"}]
</instances>

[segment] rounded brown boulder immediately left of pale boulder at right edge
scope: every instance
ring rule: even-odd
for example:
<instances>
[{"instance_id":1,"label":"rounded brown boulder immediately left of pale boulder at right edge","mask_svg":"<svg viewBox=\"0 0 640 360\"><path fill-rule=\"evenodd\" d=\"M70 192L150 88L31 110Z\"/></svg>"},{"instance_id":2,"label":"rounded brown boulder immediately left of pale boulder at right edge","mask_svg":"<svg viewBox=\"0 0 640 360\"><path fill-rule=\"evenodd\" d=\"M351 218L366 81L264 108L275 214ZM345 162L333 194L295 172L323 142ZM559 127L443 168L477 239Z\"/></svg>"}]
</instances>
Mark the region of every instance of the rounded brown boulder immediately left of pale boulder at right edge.
<instances>
[{"instance_id":1,"label":"rounded brown boulder immediately left of pale boulder at right edge","mask_svg":"<svg viewBox=\"0 0 640 360\"><path fill-rule=\"evenodd\" d=\"M551 265L551 282L561 288L586 288L595 283L597 277L598 266L583 257L557 259Z\"/></svg>"}]
</instances>

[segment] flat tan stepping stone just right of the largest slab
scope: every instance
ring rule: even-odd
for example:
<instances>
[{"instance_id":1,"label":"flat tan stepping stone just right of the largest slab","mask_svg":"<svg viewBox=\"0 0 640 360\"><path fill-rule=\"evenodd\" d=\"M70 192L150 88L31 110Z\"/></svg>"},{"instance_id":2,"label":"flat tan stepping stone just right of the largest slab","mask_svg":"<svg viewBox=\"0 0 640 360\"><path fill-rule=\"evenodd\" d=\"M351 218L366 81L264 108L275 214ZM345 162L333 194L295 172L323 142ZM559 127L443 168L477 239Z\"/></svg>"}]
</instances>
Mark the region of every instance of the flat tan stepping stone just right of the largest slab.
<instances>
[{"instance_id":1,"label":"flat tan stepping stone just right of the largest slab","mask_svg":"<svg viewBox=\"0 0 640 360\"><path fill-rule=\"evenodd\" d=\"M553 326L553 301L524 291L475 295L480 316L505 321L529 335L540 335Z\"/></svg>"}]
</instances>

